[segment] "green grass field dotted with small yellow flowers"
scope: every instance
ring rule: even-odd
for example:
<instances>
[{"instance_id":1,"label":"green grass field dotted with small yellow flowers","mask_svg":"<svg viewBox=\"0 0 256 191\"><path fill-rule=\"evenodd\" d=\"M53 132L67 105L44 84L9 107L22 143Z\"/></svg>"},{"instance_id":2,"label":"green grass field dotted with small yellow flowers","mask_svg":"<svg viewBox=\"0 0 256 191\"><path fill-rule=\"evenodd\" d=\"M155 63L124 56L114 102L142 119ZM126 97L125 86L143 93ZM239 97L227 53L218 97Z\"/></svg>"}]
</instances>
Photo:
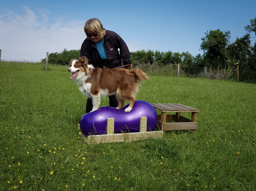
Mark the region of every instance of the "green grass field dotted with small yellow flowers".
<instances>
[{"instance_id":1,"label":"green grass field dotted with small yellow flowers","mask_svg":"<svg viewBox=\"0 0 256 191\"><path fill-rule=\"evenodd\" d=\"M1 190L256 190L256 84L149 76L137 100L198 108L198 130L87 145L87 98L68 66L44 67L1 62Z\"/></svg>"}]
</instances>

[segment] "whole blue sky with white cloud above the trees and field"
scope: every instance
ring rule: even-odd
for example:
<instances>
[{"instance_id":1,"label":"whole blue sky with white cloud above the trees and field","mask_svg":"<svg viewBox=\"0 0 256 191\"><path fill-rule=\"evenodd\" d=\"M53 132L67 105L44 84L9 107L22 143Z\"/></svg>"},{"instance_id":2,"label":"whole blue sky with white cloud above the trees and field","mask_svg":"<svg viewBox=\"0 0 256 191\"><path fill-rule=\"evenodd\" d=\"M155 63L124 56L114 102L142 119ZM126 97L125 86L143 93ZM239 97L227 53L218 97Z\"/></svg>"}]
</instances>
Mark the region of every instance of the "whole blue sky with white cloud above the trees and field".
<instances>
[{"instance_id":1,"label":"whole blue sky with white cloud above the trees and field","mask_svg":"<svg viewBox=\"0 0 256 191\"><path fill-rule=\"evenodd\" d=\"M256 0L10 0L0 6L0 49L18 52L61 52L80 49L83 27L98 18L115 31L130 52L201 53L205 32L230 31L233 40L246 34L256 17ZM253 39L254 40L254 39Z\"/></svg>"}]
</instances>

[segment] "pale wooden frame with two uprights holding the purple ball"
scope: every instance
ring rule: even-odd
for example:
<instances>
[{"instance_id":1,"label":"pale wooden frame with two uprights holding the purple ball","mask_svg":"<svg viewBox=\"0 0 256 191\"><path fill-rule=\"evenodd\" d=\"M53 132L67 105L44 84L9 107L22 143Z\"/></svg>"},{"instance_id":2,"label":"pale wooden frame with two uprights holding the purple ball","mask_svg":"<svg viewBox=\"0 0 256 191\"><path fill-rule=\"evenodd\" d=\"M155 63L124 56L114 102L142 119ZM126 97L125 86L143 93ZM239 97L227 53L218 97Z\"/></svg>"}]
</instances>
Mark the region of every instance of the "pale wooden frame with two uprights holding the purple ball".
<instances>
[{"instance_id":1,"label":"pale wooden frame with two uprights holding the purple ball","mask_svg":"<svg viewBox=\"0 0 256 191\"><path fill-rule=\"evenodd\" d=\"M78 130L81 131L78 124ZM147 131L147 117L140 117L140 130L137 133L114 134L114 118L107 118L107 134L84 136L88 144L99 144L107 142L138 141L148 138L162 138L164 131Z\"/></svg>"}]
</instances>

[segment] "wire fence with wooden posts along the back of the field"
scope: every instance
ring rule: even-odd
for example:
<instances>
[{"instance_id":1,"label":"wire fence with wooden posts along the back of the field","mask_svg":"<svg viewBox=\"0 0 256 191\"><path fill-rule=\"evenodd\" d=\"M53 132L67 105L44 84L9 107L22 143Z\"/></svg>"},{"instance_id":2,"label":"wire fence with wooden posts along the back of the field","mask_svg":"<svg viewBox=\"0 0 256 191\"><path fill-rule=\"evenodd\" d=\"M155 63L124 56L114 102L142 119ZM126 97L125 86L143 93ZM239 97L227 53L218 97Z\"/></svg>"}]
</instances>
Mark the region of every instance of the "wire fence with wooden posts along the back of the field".
<instances>
[{"instance_id":1,"label":"wire fence with wooden posts along the back of the field","mask_svg":"<svg viewBox=\"0 0 256 191\"><path fill-rule=\"evenodd\" d=\"M46 62L47 53L38 52L17 52L0 50L0 60L5 62L31 62L39 63ZM66 65L71 58L70 55L62 55L61 57L52 57L49 60L49 64L61 64ZM72 57L73 58L73 57ZM149 73L150 75L164 75L164 76L188 76L193 78L207 78L207 79L230 79L236 78L238 75L238 67L232 68L208 68L197 66L185 66L180 64L164 64L159 65L157 62L150 63L133 63L133 68L140 68L142 71ZM46 66L47 70L47 66Z\"/></svg>"}]
</instances>

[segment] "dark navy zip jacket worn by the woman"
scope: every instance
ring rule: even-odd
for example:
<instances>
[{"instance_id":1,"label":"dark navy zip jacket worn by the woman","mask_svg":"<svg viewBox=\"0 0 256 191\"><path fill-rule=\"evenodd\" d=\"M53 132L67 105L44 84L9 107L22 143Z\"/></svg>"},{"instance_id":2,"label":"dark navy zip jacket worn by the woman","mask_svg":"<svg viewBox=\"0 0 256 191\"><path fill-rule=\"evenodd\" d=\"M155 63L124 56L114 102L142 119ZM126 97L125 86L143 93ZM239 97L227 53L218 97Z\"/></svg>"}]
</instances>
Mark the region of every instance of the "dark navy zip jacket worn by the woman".
<instances>
[{"instance_id":1,"label":"dark navy zip jacket worn by the woman","mask_svg":"<svg viewBox=\"0 0 256 191\"><path fill-rule=\"evenodd\" d=\"M86 57L89 64L94 67L116 68L121 66L121 59L124 65L131 64L130 52L124 40L113 31L107 31L104 36L104 49L107 53L107 60L102 60L96 48L96 44L89 38L86 38L81 46L80 57ZM120 55L119 51L120 49Z\"/></svg>"}]
</instances>

